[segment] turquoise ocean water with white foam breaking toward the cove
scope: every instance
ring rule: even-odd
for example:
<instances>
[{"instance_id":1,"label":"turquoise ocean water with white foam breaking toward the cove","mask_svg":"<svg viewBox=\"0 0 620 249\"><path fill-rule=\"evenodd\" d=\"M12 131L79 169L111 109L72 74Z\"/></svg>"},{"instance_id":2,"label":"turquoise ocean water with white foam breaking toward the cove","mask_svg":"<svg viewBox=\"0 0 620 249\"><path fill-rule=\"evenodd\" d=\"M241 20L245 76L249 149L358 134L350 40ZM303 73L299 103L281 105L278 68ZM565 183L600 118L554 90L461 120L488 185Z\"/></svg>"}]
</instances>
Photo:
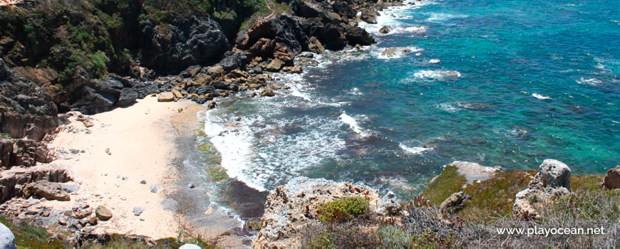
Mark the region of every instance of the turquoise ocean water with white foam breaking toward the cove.
<instances>
[{"instance_id":1,"label":"turquoise ocean water with white foam breaking toward the cove","mask_svg":"<svg viewBox=\"0 0 620 249\"><path fill-rule=\"evenodd\" d=\"M407 197L454 160L620 163L620 1L415 3L361 24L376 46L274 75L291 87L276 97L217 100L200 115L211 164L259 191L309 176ZM382 55L394 46L410 53Z\"/></svg>"}]
</instances>

